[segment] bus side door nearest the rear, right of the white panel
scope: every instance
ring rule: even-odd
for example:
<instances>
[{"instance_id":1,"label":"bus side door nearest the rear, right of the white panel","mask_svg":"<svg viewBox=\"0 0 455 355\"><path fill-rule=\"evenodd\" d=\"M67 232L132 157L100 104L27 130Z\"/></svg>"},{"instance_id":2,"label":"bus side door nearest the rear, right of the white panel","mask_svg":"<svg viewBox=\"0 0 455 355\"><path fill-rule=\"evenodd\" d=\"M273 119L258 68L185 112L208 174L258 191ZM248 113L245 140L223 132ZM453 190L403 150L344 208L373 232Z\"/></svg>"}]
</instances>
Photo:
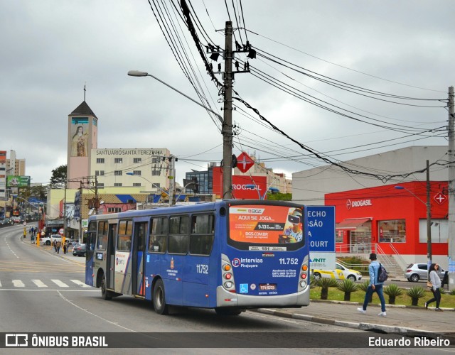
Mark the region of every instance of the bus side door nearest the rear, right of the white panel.
<instances>
[{"instance_id":1,"label":"bus side door nearest the rear, right of the white panel","mask_svg":"<svg viewBox=\"0 0 455 355\"><path fill-rule=\"evenodd\" d=\"M132 255L132 294L145 296L144 284L144 256L145 241L147 231L149 230L148 222L139 222L134 224L133 255Z\"/></svg>"}]
</instances>

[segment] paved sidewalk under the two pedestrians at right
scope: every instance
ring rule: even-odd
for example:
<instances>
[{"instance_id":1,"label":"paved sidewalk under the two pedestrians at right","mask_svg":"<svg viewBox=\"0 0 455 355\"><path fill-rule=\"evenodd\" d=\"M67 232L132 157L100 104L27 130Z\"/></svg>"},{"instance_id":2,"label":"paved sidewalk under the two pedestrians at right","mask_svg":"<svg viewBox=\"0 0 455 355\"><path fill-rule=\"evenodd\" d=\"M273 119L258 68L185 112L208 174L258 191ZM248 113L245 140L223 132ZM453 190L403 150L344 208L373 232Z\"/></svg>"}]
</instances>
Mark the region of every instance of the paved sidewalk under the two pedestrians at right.
<instances>
[{"instance_id":1,"label":"paved sidewalk under the two pedestrians at right","mask_svg":"<svg viewBox=\"0 0 455 355\"><path fill-rule=\"evenodd\" d=\"M420 300L419 303L424 303ZM431 307L433 306L433 307ZM311 300L308 307L259 309L257 312L279 317L306 320L309 322L332 324L351 329L378 332L454 332L454 308L434 311L434 302L428 310L423 307L386 305L387 317L379 317L380 305L368 305L366 314L357 311L362 307L358 302Z\"/></svg>"}]
</instances>

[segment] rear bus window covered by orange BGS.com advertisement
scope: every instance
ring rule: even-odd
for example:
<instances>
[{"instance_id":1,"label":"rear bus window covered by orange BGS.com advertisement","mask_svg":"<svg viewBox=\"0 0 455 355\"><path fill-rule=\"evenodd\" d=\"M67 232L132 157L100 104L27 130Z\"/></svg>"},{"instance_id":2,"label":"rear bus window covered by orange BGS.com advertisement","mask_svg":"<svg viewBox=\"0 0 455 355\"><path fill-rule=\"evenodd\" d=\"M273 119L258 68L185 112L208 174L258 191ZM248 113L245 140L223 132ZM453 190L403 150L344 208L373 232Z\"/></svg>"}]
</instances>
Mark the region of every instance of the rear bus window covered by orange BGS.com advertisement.
<instances>
[{"instance_id":1,"label":"rear bus window covered by orange BGS.com advertisement","mask_svg":"<svg viewBox=\"0 0 455 355\"><path fill-rule=\"evenodd\" d=\"M302 209L276 205L233 205L229 207L228 244L237 249L271 246L291 251L305 245Z\"/></svg>"}]
</instances>

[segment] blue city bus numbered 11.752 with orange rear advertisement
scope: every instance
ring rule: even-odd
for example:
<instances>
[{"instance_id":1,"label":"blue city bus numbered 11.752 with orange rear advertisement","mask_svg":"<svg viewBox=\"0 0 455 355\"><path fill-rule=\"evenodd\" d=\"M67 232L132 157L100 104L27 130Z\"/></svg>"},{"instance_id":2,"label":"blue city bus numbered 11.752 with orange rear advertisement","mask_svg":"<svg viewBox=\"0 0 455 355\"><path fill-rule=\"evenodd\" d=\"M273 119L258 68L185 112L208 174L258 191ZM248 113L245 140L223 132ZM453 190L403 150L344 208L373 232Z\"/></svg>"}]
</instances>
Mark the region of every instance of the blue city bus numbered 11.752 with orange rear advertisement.
<instances>
[{"instance_id":1,"label":"blue city bus numbered 11.752 with orange rear advertisement","mask_svg":"<svg viewBox=\"0 0 455 355\"><path fill-rule=\"evenodd\" d=\"M85 283L102 298L131 295L168 306L309 305L306 207L223 200L90 217Z\"/></svg>"}]
</instances>

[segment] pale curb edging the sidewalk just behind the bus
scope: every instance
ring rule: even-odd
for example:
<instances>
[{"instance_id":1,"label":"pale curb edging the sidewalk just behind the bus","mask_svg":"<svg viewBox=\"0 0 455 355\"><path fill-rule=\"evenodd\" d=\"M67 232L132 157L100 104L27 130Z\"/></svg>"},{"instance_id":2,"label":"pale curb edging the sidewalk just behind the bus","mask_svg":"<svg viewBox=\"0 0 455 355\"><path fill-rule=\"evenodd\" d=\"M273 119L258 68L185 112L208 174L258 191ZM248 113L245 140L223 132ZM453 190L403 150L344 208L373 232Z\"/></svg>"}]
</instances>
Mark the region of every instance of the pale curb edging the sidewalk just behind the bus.
<instances>
[{"instance_id":1,"label":"pale curb edging the sidewalk just behind the bus","mask_svg":"<svg viewBox=\"0 0 455 355\"><path fill-rule=\"evenodd\" d=\"M357 303L357 302L352 302ZM338 327L346 327L350 329L359 329L368 332L380 332L380 333L420 333L420 334L432 334L434 332L429 332L422 329L414 329L407 327L393 327L390 325L382 324L373 324L373 323L363 323L363 322L346 322L342 320L329 320L328 318L323 317L314 317L311 315L299 315L297 313L288 313L277 310L270 310L269 308L258 308L256 310L250 310L252 312L264 313L266 315L274 315L277 317L290 318L293 320L305 320L307 322L314 322L319 324L328 324L336 325Z\"/></svg>"}]
</instances>

